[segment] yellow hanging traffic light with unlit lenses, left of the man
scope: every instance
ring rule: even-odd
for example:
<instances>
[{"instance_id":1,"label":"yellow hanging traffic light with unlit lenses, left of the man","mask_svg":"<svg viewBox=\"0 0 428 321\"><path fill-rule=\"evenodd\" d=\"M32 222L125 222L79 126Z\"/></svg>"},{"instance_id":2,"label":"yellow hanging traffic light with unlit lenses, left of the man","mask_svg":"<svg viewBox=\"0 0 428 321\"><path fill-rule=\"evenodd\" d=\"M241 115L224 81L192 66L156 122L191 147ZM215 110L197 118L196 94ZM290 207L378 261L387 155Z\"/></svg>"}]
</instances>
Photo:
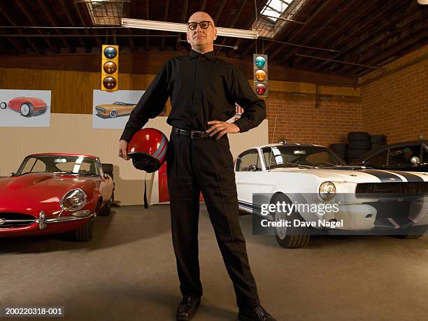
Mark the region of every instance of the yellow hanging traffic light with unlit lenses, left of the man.
<instances>
[{"instance_id":1,"label":"yellow hanging traffic light with unlit lenses, left of the man","mask_svg":"<svg viewBox=\"0 0 428 321\"><path fill-rule=\"evenodd\" d=\"M119 87L119 46L103 45L101 51L101 90L114 92Z\"/></svg>"}]
</instances>

